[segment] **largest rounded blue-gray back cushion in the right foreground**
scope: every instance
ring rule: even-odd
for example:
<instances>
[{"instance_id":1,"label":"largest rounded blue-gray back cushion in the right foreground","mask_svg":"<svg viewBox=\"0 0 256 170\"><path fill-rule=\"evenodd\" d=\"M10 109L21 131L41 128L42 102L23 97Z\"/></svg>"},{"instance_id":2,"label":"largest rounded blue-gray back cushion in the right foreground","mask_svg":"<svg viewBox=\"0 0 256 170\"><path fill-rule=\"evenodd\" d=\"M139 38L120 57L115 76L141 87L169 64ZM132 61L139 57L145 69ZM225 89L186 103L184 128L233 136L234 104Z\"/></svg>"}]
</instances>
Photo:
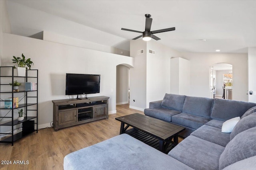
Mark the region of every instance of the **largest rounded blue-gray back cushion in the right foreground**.
<instances>
[{"instance_id":1,"label":"largest rounded blue-gray back cushion in the right foreground","mask_svg":"<svg viewBox=\"0 0 256 170\"><path fill-rule=\"evenodd\" d=\"M238 133L220 155L220 169L234 162L256 156L256 127Z\"/></svg>"}]
</instances>

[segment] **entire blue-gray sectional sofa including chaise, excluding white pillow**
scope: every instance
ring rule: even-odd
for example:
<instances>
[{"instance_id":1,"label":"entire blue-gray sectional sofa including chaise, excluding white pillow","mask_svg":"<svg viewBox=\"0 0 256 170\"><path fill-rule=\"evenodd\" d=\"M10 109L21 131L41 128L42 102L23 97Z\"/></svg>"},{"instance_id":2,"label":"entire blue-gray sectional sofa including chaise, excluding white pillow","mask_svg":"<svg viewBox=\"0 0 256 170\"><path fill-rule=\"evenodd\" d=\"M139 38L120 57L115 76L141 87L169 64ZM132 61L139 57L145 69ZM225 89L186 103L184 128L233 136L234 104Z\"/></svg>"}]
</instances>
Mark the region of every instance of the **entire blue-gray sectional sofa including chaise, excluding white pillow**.
<instances>
[{"instance_id":1,"label":"entire blue-gray sectional sofa including chaise, excluding white pillow","mask_svg":"<svg viewBox=\"0 0 256 170\"><path fill-rule=\"evenodd\" d=\"M151 102L145 114L185 126L186 138L164 154L127 134L118 135L68 154L64 169L256 168L255 103L166 94L161 102ZM231 133L223 133L222 124L234 117L241 119Z\"/></svg>"}]
</instances>

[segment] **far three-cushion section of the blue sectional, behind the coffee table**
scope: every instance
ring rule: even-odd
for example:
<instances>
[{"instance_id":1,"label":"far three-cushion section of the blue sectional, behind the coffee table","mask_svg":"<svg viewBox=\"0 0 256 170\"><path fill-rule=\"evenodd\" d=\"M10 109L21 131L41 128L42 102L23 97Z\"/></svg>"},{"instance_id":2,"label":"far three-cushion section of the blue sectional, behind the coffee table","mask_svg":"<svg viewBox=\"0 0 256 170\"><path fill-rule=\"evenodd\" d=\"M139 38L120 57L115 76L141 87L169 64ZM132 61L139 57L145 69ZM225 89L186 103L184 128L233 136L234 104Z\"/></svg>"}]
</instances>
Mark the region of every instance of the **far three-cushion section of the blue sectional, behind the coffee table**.
<instances>
[{"instance_id":1,"label":"far three-cushion section of the blue sectional, behind the coffee table","mask_svg":"<svg viewBox=\"0 0 256 170\"><path fill-rule=\"evenodd\" d=\"M206 125L222 124L233 117L241 117L254 106L256 106L255 103L236 100L165 94L163 100L150 102L149 108L145 109L144 113L150 117L186 127L186 130L179 135L188 137L206 123Z\"/></svg>"}]
</instances>

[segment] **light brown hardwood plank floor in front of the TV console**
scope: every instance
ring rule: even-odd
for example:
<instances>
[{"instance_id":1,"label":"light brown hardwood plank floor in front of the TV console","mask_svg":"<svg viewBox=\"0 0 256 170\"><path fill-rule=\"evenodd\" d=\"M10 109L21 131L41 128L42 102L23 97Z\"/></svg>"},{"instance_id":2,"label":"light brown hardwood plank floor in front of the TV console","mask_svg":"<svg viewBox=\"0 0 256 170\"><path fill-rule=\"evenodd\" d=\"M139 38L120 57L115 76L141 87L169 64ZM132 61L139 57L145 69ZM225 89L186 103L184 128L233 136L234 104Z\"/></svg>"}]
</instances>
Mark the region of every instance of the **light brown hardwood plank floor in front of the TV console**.
<instances>
[{"instance_id":1,"label":"light brown hardwood plank floor in front of the TV console","mask_svg":"<svg viewBox=\"0 0 256 170\"><path fill-rule=\"evenodd\" d=\"M1 143L0 163L2 160L11 160L12 164L0 164L0 170L63 170L63 160L67 154L119 135L121 122L115 120L116 117L144 114L143 111L130 109L128 104L117 106L116 111L108 119L59 131L53 128L41 129L16 141L14 146ZM27 164L14 164L17 160Z\"/></svg>"}]
</instances>

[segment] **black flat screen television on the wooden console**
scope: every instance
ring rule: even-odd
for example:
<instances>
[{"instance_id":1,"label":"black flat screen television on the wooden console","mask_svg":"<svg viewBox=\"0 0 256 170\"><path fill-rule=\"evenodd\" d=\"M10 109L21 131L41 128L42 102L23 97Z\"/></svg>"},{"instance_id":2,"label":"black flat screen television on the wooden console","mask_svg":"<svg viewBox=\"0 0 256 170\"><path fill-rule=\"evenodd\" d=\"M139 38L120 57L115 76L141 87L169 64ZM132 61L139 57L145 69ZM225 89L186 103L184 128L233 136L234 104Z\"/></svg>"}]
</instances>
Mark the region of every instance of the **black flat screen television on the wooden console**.
<instances>
[{"instance_id":1,"label":"black flat screen television on the wooden console","mask_svg":"<svg viewBox=\"0 0 256 170\"><path fill-rule=\"evenodd\" d=\"M99 74L66 73L66 95L93 94L100 92Z\"/></svg>"}]
</instances>

